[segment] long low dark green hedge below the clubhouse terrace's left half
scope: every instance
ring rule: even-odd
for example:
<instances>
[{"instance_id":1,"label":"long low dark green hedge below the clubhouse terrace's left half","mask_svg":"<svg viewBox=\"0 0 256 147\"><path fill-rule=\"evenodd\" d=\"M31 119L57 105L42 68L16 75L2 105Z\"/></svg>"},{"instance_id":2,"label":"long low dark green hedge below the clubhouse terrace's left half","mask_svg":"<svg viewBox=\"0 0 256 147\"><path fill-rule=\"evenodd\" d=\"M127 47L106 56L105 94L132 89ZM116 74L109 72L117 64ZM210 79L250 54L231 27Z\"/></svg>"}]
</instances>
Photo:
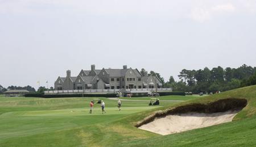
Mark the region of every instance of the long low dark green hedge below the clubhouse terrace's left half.
<instances>
[{"instance_id":1,"label":"long low dark green hedge below the clubhouse terrace's left half","mask_svg":"<svg viewBox=\"0 0 256 147\"><path fill-rule=\"evenodd\" d=\"M40 93L25 94L25 97L38 97L38 98L69 98L69 97L105 97L115 98L117 94L61 94L61 95L44 95Z\"/></svg>"}]
</instances>

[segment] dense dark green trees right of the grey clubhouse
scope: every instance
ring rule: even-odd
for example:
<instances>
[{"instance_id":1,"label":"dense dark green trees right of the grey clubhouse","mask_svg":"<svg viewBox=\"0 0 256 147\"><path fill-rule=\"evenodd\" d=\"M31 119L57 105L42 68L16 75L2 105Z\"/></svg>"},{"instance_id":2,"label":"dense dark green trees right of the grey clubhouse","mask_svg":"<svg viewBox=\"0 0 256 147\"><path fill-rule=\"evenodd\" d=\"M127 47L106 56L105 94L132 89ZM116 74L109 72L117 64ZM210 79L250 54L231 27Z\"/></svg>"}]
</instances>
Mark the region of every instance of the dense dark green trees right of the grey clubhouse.
<instances>
[{"instance_id":1,"label":"dense dark green trees right of the grey clubhouse","mask_svg":"<svg viewBox=\"0 0 256 147\"><path fill-rule=\"evenodd\" d=\"M238 87L255 85L256 67L243 64L239 68L222 68L217 66L211 70L207 67L199 70L181 70L179 81L174 77L164 83L164 87L172 87L174 91L191 91L192 93L215 93Z\"/></svg>"}]
</instances>

